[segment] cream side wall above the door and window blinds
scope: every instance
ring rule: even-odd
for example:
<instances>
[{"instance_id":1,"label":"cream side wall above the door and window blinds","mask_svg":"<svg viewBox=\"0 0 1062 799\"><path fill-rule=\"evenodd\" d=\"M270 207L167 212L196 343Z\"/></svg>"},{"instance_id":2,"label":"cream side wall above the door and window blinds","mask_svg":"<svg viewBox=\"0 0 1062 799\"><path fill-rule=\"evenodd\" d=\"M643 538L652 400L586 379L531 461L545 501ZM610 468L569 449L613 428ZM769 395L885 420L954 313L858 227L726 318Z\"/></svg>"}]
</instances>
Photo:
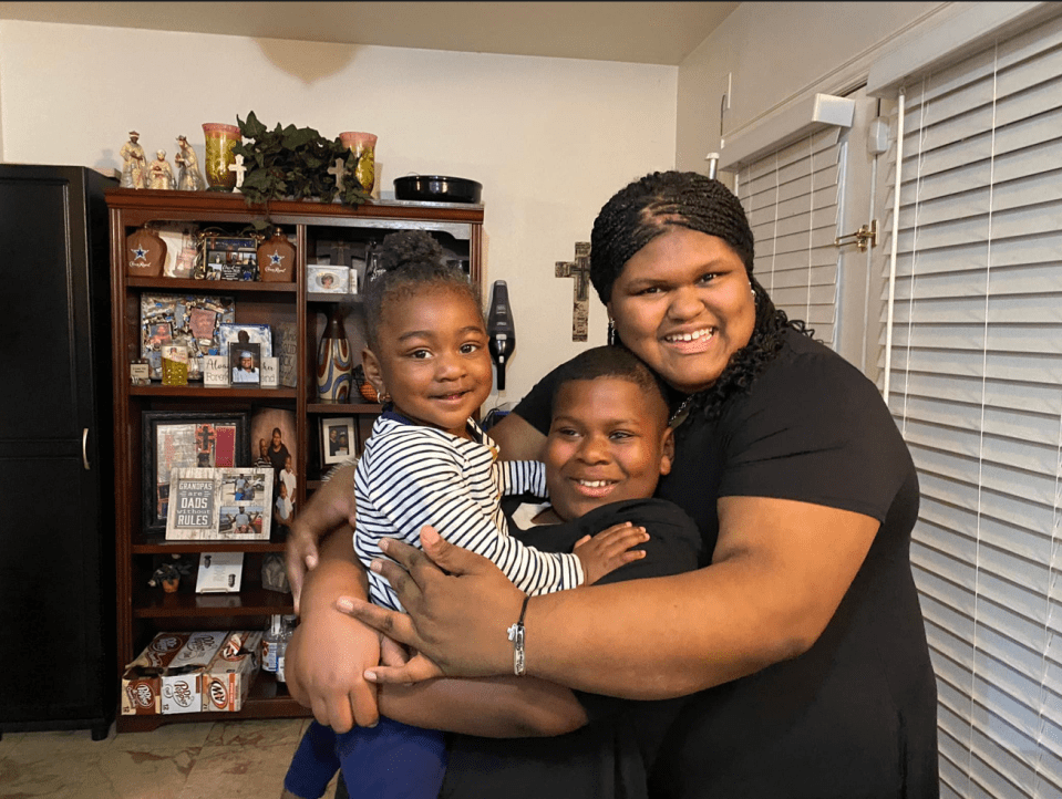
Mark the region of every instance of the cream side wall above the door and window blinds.
<instances>
[{"instance_id":1,"label":"cream side wall above the door and window blinds","mask_svg":"<svg viewBox=\"0 0 1062 799\"><path fill-rule=\"evenodd\" d=\"M969 4L743 2L679 69L677 168L707 174L704 156L722 149L721 127L724 137L740 135L804 94L854 89L897 35ZM721 112L728 85L730 107Z\"/></svg>"}]
</instances>

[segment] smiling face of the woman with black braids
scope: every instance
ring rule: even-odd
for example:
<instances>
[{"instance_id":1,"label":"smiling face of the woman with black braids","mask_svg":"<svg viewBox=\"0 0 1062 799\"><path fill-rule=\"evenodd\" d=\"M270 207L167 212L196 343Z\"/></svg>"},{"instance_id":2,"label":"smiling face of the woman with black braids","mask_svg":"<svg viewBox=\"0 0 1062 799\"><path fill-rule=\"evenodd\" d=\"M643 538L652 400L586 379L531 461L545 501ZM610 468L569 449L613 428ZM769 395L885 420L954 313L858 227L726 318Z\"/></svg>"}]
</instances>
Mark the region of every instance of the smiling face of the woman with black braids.
<instances>
[{"instance_id":1,"label":"smiling face of the woman with black braids","mask_svg":"<svg viewBox=\"0 0 1062 799\"><path fill-rule=\"evenodd\" d=\"M716 236L681 227L627 261L607 308L620 340L688 394L719 378L756 318L738 253Z\"/></svg>"}]
</instances>

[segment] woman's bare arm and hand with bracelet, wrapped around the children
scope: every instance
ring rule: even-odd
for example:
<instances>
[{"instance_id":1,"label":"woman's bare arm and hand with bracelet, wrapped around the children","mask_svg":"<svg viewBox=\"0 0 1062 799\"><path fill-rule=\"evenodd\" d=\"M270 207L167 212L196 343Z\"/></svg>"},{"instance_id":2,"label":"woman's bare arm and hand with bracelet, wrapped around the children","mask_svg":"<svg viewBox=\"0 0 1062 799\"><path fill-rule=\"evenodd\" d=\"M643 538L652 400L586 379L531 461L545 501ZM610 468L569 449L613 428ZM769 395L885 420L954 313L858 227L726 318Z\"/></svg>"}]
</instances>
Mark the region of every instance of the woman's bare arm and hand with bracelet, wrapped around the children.
<instances>
[{"instance_id":1,"label":"woman's bare arm and hand with bracelet, wrapped around the children","mask_svg":"<svg viewBox=\"0 0 1062 799\"><path fill-rule=\"evenodd\" d=\"M528 674L591 693L660 699L794 657L833 618L878 529L860 513L759 497L721 499L719 519L713 562L704 569L533 598L525 616ZM399 563L373 564L409 615L357 600L347 603L351 613L447 675L511 674L506 630L519 615L520 593L486 559L432 530L421 540L424 552L389 541L388 556Z\"/></svg>"}]
</instances>

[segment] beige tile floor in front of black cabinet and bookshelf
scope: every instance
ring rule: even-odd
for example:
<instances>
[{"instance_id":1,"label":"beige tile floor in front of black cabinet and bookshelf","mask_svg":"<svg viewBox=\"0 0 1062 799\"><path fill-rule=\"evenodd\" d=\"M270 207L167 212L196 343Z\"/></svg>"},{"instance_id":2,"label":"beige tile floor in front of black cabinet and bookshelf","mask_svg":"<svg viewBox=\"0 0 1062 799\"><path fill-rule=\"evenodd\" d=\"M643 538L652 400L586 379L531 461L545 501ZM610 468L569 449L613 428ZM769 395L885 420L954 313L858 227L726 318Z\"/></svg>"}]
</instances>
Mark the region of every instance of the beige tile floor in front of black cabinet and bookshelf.
<instances>
[{"instance_id":1,"label":"beige tile floor in front of black cabinet and bookshelf","mask_svg":"<svg viewBox=\"0 0 1062 799\"><path fill-rule=\"evenodd\" d=\"M6 733L0 799L279 799L309 719L167 724L92 740L87 729ZM326 797L334 796L334 779Z\"/></svg>"}]
</instances>

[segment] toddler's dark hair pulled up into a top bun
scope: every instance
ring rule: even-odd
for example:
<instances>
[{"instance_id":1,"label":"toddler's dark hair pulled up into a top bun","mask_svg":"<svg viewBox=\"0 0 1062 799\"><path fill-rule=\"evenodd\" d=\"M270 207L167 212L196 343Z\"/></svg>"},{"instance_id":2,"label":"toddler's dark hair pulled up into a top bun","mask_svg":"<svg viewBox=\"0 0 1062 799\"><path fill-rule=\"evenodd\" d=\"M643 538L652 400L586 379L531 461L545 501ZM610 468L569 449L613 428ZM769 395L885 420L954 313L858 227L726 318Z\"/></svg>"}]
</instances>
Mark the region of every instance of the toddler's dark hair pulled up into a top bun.
<instances>
[{"instance_id":1,"label":"toddler's dark hair pulled up into a top bun","mask_svg":"<svg viewBox=\"0 0 1062 799\"><path fill-rule=\"evenodd\" d=\"M465 293L483 315L478 289L464 272L448 266L445 256L442 245L423 230L400 230L383 237L379 268L365 286L365 341L370 349L377 345L386 303L425 287Z\"/></svg>"}]
</instances>

